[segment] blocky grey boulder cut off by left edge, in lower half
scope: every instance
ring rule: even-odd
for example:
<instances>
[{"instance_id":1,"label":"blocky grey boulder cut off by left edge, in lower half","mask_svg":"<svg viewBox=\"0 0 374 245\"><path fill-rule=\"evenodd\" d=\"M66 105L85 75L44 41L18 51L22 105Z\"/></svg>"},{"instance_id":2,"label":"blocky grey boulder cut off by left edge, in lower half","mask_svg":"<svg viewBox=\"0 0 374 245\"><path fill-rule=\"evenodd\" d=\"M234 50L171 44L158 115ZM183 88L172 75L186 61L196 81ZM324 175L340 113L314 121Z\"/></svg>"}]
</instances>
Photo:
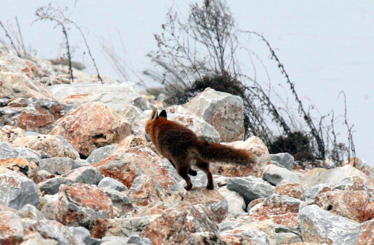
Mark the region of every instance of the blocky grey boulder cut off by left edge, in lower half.
<instances>
[{"instance_id":1,"label":"blocky grey boulder cut off by left edge, in lower half","mask_svg":"<svg viewBox=\"0 0 374 245\"><path fill-rule=\"evenodd\" d=\"M39 205L39 191L36 184L19 174L0 174L0 204L21 209L26 204Z\"/></svg>"}]
</instances>

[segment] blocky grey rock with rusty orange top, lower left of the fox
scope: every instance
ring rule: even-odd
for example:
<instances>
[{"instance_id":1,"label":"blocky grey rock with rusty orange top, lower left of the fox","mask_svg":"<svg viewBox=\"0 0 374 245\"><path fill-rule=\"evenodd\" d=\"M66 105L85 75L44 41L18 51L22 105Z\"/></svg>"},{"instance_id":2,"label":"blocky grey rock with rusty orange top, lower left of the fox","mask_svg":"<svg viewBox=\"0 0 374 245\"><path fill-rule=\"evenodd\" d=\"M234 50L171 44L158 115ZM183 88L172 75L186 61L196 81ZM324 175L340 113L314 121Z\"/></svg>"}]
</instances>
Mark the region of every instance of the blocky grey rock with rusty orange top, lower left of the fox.
<instances>
[{"instance_id":1,"label":"blocky grey rock with rusty orange top, lower left of the fox","mask_svg":"<svg viewBox=\"0 0 374 245\"><path fill-rule=\"evenodd\" d=\"M70 226L88 227L95 218L113 218L113 204L99 187L75 183L59 189L56 220Z\"/></svg>"}]
</instances>

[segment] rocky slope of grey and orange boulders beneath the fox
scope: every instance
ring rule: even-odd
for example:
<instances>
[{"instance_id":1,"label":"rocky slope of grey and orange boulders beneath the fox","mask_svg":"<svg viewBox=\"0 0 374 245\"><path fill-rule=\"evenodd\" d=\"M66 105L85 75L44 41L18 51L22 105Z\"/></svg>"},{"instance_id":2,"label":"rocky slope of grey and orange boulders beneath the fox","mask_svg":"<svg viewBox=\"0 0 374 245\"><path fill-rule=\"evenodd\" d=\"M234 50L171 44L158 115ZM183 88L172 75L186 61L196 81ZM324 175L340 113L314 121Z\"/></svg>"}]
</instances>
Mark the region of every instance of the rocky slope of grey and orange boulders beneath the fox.
<instances>
[{"instance_id":1,"label":"rocky slope of grey and orange boulders beneath the fox","mask_svg":"<svg viewBox=\"0 0 374 245\"><path fill-rule=\"evenodd\" d=\"M131 83L0 50L0 244L374 244L374 181L362 160L296 170L288 153L243 141L243 101L206 89L164 108ZM251 166L212 164L193 189L144 137L150 109Z\"/></svg>"}]
</instances>

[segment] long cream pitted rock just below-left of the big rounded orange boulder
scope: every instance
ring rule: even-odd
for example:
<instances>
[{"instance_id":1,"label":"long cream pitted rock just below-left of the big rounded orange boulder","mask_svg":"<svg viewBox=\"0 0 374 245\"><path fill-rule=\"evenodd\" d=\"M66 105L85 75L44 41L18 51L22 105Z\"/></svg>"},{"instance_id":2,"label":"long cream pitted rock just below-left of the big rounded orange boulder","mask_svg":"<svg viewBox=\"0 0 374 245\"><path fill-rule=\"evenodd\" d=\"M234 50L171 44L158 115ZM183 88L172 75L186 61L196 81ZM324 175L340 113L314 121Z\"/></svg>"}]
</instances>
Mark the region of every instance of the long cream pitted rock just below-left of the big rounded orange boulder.
<instances>
[{"instance_id":1,"label":"long cream pitted rock just below-left of the big rounded orange boulder","mask_svg":"<svg viewBox=\"0 0 374 245\"><path fill-rule=\"evenodd\" d=\"M45 151L52 157L76 158L70 149L62 144L62 141L53 135L31 135L20 137L13 141L14 145L23 146L35 151Z\"/></svg>"}]
</instances>

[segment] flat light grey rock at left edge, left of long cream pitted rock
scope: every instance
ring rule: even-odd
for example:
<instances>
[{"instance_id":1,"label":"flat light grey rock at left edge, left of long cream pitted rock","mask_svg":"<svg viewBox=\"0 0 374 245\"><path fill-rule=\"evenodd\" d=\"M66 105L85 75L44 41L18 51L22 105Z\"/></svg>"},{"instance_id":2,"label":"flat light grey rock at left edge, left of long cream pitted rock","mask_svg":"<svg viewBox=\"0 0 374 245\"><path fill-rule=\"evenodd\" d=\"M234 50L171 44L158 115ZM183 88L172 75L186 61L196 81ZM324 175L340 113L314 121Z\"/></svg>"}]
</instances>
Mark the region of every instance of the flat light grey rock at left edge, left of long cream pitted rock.
<instances>
[{"instance_id":1,"label":"flat light grey rock at left edge, left of long cream pitted rock","mask_svg":"<svg viewBox=\"0 0 374 245\"><path fill-rule=\"evenodd\" d=\"M40 157L25 147L10 146L8 142L0 142L0 159L23 158L30 162L38 162Z\"/></svg>"}]
</instances>

